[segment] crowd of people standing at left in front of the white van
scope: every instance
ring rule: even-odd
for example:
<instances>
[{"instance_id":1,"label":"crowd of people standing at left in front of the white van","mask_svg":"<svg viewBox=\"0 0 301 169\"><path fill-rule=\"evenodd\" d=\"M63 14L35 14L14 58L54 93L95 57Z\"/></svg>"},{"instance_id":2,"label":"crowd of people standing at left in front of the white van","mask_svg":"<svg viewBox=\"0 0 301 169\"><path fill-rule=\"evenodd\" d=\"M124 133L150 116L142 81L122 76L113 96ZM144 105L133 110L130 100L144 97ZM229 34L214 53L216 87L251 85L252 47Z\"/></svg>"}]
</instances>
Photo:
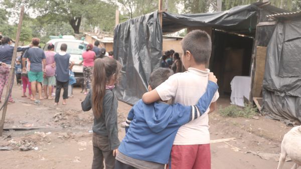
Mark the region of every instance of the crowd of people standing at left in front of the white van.
<instances>
[{"instance_id":1,"label":"crowd of people standing at left in front of the white van","mask_svg":"<svg viewBox=\"0 0 301 169\"><path fill-rule=\"evenodd\" d=\"M22 97L28 97L32 101L39 103L42 99L54 99L58 105L61 89L63 88L63 105L66 105L66 99L73 97L73 84L76 83L72 67L74 62L70 61L70 54L67 53L67 44L60 46L60 52L55 52L54 44L47 44L47 51L40 47L40 39L33 38L29 46L18 47L18 52L22 52L21 57L16 60L15 66L11 66L14 46L9 37L0 37L0 102L5 85L8 82L10 68L15 67L17 84L23 85ZM99 42L94 46L88 44L86 51L82 53L83 75L85 83L85 94L91 89L92 70L94 60L105 56L105 49L98 48ZM113 58L110 52L110 58ZM55 94L54 92L55 87ZM68 88L70 93L68 93ZM28 96L26 90L28 88ZM44 88L44 96L42 90ZM38 96L36 94L38 93ZM9 103L14 103L11 94Z\"/></svg>"}]
</instances>

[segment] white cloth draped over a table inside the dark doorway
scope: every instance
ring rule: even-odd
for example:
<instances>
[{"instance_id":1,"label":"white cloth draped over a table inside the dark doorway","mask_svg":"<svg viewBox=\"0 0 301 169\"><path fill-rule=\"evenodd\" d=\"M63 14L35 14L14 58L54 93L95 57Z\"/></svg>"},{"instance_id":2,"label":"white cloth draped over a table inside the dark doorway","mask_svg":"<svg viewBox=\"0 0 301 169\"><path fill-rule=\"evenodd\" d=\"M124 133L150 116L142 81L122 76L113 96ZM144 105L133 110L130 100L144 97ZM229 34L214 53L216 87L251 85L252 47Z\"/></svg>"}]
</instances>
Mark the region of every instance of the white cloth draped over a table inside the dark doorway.
<instances>
[{"instance_id":1,"label":"white cloth draped over a table inside the dark doorway","mask_svg":"<svg viewBox=\"0 0 301 169\"><path fill-rule=\"evenodd\" d=\"M250 96L250 76L235 76L231 81L231 104L236 104L244 107L243 96L249 99Z\"/></svg>"}]
</instances>

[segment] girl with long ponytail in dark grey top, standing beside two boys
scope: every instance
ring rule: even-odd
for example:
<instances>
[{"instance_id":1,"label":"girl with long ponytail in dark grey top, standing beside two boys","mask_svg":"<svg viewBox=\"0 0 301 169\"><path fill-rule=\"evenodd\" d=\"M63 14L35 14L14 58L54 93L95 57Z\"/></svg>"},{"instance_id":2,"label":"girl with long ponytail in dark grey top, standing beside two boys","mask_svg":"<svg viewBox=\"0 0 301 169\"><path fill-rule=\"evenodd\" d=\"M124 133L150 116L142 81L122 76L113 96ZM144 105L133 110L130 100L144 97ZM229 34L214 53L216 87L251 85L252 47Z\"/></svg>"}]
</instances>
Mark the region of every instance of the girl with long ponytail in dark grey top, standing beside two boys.
<instances>
[{"instance_id":1,"label":"girl with long ponytail in dark grey top, standing beside two boys","mask_svg":"<svg viewBox=\"0 0 301 169\"><path fill-rule=\"evenodd\" d=\"M91 108L94 114L92 169L113 169L120 144L117 127L118 101L113 86L118 81L121 65L115 59L96 59L93 69L92 89L82 102L83 111ZM104 162L103 162L104 159Z\"/></svg>"}]
</instances>

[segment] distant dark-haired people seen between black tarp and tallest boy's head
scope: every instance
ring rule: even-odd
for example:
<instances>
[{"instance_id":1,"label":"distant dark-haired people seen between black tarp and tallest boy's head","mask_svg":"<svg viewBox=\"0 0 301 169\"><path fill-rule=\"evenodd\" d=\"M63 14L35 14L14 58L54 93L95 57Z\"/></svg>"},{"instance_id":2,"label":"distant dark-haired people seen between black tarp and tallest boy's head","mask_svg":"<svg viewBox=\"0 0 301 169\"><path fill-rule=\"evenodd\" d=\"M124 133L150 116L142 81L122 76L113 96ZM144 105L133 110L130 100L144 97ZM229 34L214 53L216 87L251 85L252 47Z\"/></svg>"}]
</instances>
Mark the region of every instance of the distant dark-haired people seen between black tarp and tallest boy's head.
<instances>
[{"instance_id":1,"label":"distant dark-haired people seen between black tarp and tallest boy's head","mask_svg":"<svg viewBox=\"0 0 301 169\"><path fill-rule=\"evenodd\" d=\"M179 53L175 53L173 49L166 51L161 58L161 67L170 68L174 73L182 72L182 61Z\"/></svg>"}]
</instances>

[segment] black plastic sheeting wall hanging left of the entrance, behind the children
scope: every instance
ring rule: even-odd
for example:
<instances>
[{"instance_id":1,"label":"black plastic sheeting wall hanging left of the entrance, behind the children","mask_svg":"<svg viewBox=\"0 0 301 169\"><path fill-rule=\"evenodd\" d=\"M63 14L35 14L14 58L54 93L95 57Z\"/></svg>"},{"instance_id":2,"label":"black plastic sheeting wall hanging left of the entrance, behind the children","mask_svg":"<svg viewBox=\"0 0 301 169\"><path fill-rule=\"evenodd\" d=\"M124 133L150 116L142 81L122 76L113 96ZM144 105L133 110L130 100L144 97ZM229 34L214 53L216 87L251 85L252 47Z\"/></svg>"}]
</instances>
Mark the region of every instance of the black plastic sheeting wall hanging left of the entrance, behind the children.
<instances>
[{"instance_id":1,"label":"black plastic sheeting wall hanging left of the entrance, behind the children","mask_svg":"<svg viewBox=\"0 0 301 169\"><path fill-rule=\"evenodd\" d=\"M162 31L158 12L119 24L114 30L114 57L122 64L118 100L135 104L147 91L150 73L160 66Z\"/></svg>"}]
</instances>

